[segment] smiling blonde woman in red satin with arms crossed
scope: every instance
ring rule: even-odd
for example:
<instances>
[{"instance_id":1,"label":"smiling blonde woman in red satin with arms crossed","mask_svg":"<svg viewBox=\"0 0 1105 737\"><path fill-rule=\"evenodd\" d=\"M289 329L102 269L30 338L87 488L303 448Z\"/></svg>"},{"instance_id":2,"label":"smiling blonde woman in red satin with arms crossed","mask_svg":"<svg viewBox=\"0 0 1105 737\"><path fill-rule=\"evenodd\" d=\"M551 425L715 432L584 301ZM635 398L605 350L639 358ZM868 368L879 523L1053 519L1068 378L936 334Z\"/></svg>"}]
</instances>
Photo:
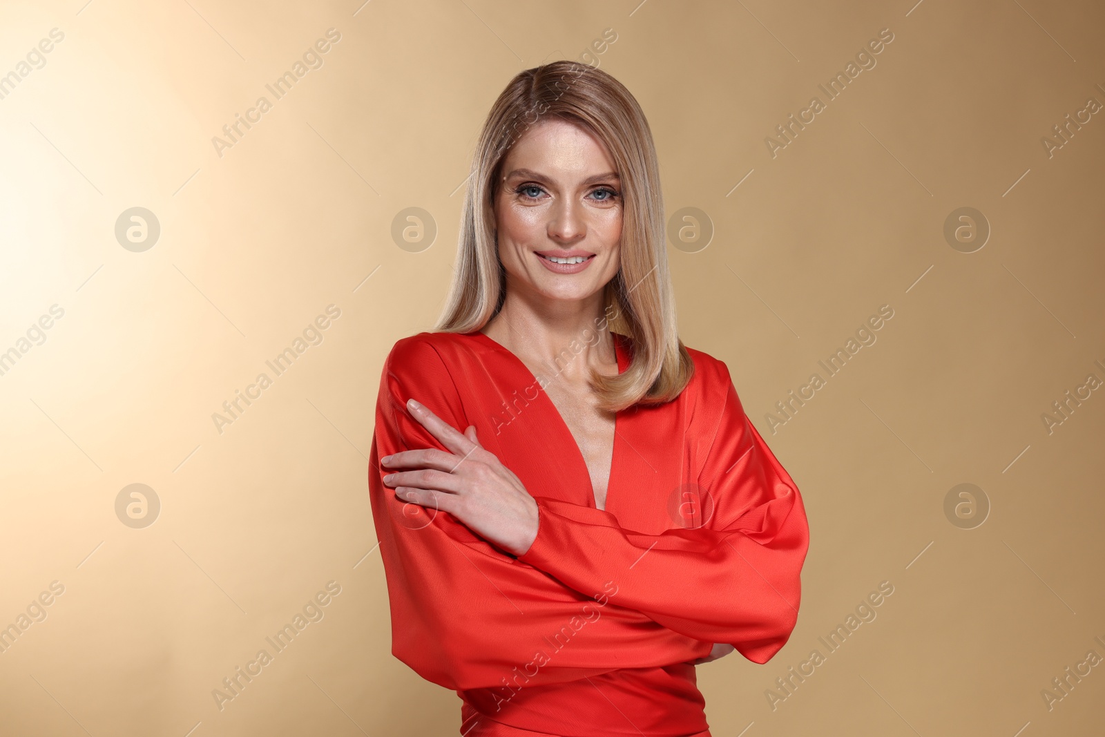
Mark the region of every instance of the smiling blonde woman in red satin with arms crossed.
<instances>
[{"instance_id":1,"label":"smiling blonde woman in red satin with arms crossed","mask_svg":"<svg viewBox=\"0 0 1105 737\"><path fill-rule=\"evenodd\" d=\"M583 64L519 73L464 208L438 331L380 382L392 653L467 737L708 735L695 664L786 643L809 536L725 364L676 335L644 114Z\"/></svg>"}]
</instances>

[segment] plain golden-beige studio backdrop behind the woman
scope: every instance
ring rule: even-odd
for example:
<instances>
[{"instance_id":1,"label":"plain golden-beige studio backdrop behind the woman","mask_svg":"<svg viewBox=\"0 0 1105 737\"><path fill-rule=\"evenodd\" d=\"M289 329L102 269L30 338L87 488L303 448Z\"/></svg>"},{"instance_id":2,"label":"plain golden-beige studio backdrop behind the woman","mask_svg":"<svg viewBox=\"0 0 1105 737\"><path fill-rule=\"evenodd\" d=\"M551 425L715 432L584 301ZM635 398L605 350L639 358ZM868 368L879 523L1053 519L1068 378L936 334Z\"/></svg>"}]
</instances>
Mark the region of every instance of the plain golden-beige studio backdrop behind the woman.
<instances>
[{"instance_id":1,"label":"plain golden-beige studio backdrop behind the woman","mask_svg":"<svg viewBox=\"0 0 1105 737\"><path fill-rule=\"evenodd\" d=\"M1105 10L638 2L0 8L19 77L0 99L0 350L19 354L0 627L64 587L0 653L0 731L456 734L456 696L390 655L366 486L379 372L440 312L492 101L588 52L649 116L667 215L708 218L707 248L670 248L681 334L728 364L812 530L787 646L698 668L714 734L1099 731L1105 666L1051 709L1041 689L1105 657L1105 391L1050 433L1041 415L1105 380L1105 113L1051 157L1041 138L1105 103ZM322 67L220 157L212 137L332 28ZM765 138L884 28L876 66L772 158ZM160 224L140 252L115 236L133 207ZM410 207L438 230L419 252L391 236ZM972 253L944 236L962 207L992 230ZM220 433L212 413L332 304L322 343ZM772 433L881 305L877 341ZM140 529L115 512L134 483L161 505ZM961 483L990 505L972 529L945 514ZM324 618L220 710L212 689L328 581ZM877 618L772 709L881 581Z\"/></svg>"}]
</instances>

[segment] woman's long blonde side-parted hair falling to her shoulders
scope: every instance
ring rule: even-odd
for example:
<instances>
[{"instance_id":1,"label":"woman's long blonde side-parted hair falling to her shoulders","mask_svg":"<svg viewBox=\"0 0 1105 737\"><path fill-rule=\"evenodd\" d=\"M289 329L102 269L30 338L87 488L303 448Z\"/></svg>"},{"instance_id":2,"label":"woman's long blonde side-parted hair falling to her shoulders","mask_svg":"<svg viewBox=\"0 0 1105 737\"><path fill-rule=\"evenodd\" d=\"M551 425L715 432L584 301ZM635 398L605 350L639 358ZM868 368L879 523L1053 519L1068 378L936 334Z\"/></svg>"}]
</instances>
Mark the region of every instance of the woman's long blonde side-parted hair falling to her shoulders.
<instances>
[{"instance_id":1,"label":"woman's long blonde side-parted hair falling to her shoulders","mask_svg":"<svg viewBox=\"0 0 1105 737\"><path fill-rule=\"evenodd\" d=\"M494 201L503 160L545 118L589 130L610 152L621 180L621 267L603 292L606 317L633 339L617 376L591 375L599 404L619 411L675 399L694 372L677 335L664 233L664 203L652 131L618 80L588 64L556 61L519 72L492 105L472 159L449 299L434 329L481 329L503 306L506 272L495 243Z\"/></svg>"}]
</instances>

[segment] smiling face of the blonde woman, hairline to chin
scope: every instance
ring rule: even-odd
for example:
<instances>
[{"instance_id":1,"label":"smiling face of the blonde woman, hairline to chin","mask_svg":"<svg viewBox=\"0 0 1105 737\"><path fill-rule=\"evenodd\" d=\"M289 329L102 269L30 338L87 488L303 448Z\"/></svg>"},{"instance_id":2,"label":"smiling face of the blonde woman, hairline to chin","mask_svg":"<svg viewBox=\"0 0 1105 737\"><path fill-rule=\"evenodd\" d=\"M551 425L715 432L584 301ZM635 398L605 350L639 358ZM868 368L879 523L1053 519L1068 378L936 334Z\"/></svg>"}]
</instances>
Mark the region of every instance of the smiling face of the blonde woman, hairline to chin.
<instances>
[{"instance_id":1,"label":"smiling face of the blonde woman, hairline to chin","mask_svg":"<svg viewBox=\"0 0 1105 737\"><path fill-rule=\"evenodd\" d=\"M507 292L601 295L618 273L622 230L621 183L602 141L548 118L514 145L501 171L495 228Z\"/></svg>"}]
</instances>

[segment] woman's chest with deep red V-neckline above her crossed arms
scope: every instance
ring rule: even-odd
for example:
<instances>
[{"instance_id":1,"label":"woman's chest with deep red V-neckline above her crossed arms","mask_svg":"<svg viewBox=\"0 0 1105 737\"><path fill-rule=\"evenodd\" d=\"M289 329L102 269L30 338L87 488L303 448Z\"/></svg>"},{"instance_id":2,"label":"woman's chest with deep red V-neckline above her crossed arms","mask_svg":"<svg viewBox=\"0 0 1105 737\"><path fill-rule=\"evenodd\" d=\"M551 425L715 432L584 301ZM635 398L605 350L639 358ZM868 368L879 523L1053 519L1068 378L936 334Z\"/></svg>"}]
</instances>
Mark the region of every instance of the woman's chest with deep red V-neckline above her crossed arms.
<instances>
[{"instance_id":1,"label":"woman's chest with deep red V-neckline above her crossed arms","mask_svg":"<svg viewBox=\"0 0 1105 737\"><path fill-rule=\"evenodd\" d=\"M693 430L686 392L614 415L566 372L539 380L539 366L494 345L448 360L466 421L532 495L603 509L641 533L682 526L682 493L707 448ZM620 370L628 362L620 354Z\"/></svg>"}]
</instances>

